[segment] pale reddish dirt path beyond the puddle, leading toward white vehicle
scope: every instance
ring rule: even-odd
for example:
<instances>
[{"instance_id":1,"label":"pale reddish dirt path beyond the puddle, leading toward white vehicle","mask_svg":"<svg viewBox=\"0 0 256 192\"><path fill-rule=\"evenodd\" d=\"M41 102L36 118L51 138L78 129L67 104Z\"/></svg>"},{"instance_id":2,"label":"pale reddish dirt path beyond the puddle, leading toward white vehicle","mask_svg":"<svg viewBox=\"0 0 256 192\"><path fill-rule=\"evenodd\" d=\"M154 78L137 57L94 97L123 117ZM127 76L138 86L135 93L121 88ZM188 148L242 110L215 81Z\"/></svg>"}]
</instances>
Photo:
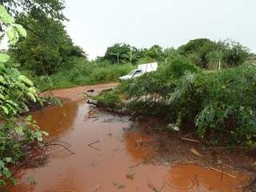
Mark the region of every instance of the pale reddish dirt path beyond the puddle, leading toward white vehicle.
<instances>
[{"instance_id":1,"label":"pale reddish dirt path beyond the puddle, leading toward white vehicle","mask_svg":"<svg viewBox=\"0 0 256 192\"><path fill-rule=\"evenodd\" d=\"M62 98L65 102L77 102L85 97L87 90L94 90L95 93L106 89L112 89L118 86L118 82L108 83L108 84L98 84L93 86L77 86L62 90L49 90L43 92L41 96L54 96L57 98Z\"/></svg>"}]
</instances>

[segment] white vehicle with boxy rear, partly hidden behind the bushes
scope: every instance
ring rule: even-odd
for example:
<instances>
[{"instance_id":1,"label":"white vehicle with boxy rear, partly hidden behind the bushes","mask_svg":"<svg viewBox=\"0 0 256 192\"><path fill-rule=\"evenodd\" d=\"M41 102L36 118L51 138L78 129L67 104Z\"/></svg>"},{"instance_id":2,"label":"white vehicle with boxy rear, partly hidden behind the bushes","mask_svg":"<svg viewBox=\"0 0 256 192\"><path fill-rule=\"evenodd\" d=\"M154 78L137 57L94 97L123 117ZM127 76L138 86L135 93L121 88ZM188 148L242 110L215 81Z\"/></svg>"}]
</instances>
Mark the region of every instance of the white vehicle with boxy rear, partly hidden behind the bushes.
<instances>
[{"instance_id":1,"label":"white vehicle with boxy rear, partly hidden behind the bushes","mask_svg":"<svg viewBox=\"0 0 256 192\"><path fill-rule=\"evenodd\" d=\"M138 65L138 69L130 71L129 74L126 74L125 76L120 77L119 80L123 81L131 78L136 78L138 76L141 76L142 74L146 74L151 71L156 71L157 69L158 69L157 62Z\"/></svg>"}]
</instances>

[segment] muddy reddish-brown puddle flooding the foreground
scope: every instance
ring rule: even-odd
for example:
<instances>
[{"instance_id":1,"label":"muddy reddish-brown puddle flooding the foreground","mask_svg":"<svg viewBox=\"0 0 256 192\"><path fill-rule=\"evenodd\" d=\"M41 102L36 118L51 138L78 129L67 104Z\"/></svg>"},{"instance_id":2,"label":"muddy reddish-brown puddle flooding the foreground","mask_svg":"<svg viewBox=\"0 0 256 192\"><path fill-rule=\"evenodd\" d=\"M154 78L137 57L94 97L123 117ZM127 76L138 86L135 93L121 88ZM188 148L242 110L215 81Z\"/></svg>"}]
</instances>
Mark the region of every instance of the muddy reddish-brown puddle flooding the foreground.
<instances>
[{"instance_id":1,"label":"muddy reddish-brown puddle flooding the foreground","mask_svg":"<svg viewBox=\"0 0 256 192\"><path fill-rule=\"evenodd\" d=\"M247 179L194 165L143 164L154 154L146 145L153 138L132 127L129 117L99 112L85 102L46 108L34 118L49 132L49 139L70 143L74 154L53 146L45 166L18 172L20 182L10 189L13 192L233 192L242 191L239 186Z\"/></svg>"}]
</instances>

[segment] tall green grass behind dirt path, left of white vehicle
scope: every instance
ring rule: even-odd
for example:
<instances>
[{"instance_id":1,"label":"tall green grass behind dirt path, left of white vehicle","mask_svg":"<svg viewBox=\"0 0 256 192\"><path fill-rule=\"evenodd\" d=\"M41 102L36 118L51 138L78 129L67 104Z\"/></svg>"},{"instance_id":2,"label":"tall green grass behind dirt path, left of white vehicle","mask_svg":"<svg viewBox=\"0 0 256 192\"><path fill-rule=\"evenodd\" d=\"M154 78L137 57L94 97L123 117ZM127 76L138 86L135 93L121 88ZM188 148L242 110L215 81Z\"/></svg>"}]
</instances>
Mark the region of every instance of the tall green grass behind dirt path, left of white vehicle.
<instances>
[{"instance_id":1,"label":"tall green grass behind dirt path, left of white vehicle","mask_svg":"<svg viewBox=\"0 0 256 192\"><path fill-rule=\"evenodd\" d=\"M24 71L34 79L39 90L61 89L97 83L118 82L118 78L133 70L131 64L113 65L109 62L88 62L84 58L72 57L58 72L50 76L40 76Z\"/></svg>"}]
</instances>

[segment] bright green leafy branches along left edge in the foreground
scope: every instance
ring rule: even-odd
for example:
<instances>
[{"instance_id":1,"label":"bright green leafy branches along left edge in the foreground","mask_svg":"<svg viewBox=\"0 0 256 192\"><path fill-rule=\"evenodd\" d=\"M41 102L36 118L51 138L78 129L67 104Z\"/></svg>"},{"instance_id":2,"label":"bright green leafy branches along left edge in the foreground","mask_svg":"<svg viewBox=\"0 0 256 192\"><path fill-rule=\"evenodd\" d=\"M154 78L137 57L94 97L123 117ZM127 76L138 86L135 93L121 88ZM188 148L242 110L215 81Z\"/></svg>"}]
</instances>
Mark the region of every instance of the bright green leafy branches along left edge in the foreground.
<instances>
[{"instance_id":1,"label":"bright green leafy branches along left edge in the foreground","mask_svg":"<svg viewBox=\"0 0 256 192\"><path fill-rule=\"evenodd\" d=\"M7 13L4 6L0 6L1 26L7 29L7 36L11 45L18 42L20 37L26 37L26 30L14 23L14 19ZM24 155L24 146L34 141L42 141L42 134L35 122L29 116L25 125L18 125L14 117L28 111L28 102L38 102L33 82L19 73L14 66L8 65L10 56L0 54L0 187L6 182L16 184L8 165L17 162Z\"/></svg>"}]
</instances>

